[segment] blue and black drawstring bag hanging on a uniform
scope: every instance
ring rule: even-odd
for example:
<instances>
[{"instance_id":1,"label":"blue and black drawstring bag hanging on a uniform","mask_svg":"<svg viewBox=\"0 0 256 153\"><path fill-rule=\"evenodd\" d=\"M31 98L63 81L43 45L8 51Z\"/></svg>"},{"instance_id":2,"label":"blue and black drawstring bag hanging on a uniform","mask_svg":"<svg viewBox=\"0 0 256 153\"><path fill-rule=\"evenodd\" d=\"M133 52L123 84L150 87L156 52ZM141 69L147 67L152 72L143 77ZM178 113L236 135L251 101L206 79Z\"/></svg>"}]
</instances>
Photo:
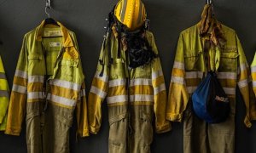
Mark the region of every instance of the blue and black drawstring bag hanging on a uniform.
<instances>
[{"instance_id":1,"label":"blue and black drawstring bag hanging on a uniform","mask_svg":"<svg viewBox=\"0 0 256 153\"><path fill-rule=\"evenodd\" d=\"M230 101L214 71L195 89L192 105L195 115L208 123L224 122L230 115Z\"/></svg>"}]
</instances>

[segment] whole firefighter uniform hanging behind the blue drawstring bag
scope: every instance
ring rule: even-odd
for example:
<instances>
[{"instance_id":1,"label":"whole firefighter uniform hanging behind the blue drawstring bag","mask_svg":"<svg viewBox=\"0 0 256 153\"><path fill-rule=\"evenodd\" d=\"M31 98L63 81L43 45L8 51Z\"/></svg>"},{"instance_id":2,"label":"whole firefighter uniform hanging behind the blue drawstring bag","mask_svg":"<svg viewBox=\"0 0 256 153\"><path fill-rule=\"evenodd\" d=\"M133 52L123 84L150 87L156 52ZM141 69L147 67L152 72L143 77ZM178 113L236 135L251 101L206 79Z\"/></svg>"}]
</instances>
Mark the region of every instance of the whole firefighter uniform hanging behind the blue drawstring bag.
<instances>
[{"instance_id":1,"label":"whole firefighter uniform hanging behind the blue drawstring bag","mask_svg":"<svg viewBox=\"0 0 256 153\"><path fill-rule=\"evenodd\" d=\"M246 106L244 123L251 127L256 119L255 99L251 94L250 72L236 31L221 25L225 47L211 48L209 62L216 65L218 81L230 99L230 116L225 122L207 124L191 111L191 95L207 71L200 23L181 32L172 69L166 117L183 121L184 153L233 153L235 149L236 85Z\"/></svg>"}]
</instances>

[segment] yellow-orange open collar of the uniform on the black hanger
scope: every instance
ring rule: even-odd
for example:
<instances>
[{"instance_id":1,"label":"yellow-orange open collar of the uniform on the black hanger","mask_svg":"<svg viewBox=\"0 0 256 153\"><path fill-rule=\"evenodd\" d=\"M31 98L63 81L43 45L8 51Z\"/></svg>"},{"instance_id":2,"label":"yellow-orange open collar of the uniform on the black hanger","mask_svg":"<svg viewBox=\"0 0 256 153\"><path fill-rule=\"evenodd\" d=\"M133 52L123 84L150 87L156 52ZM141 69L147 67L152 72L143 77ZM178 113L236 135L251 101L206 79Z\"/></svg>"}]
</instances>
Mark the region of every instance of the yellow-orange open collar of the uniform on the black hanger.
<instances>
[{"instance_id":1,"label":"yellow-orange open collar of the uniform on the black hanger","mask_svg":"<svg viewBox=\"0 0 256 153\"><path fill-rule=\"evenodd\" d=\"M36 28L36 40L37 41L42 41L42 33L44 30L44 20L41 22L41 24ZM63 47L68 48L68 47L73 47L73 41L72 38L69 35L69 32L65 26L63 26L60 22L57 22L58 25L61 26L61 31L63 35Z\"/></svg>"}]
</instances>

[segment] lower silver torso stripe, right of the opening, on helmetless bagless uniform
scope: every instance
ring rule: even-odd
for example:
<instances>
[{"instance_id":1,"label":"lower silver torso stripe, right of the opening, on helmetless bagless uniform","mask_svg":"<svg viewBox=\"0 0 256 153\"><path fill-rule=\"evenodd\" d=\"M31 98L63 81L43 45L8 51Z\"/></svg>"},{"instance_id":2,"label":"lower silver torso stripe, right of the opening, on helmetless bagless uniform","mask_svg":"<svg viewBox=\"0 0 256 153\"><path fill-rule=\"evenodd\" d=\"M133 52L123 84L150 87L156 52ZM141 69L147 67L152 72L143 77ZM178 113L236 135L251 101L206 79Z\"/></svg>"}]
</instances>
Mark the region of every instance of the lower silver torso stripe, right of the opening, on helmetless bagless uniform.
<instances>
[{"instance_id":1,"label":"lower silver torso stripe, right of the opening, on helmetless bagless uniform","mask_svg":"<svg viewBox=\"0 0 256 153\"><path fill-rule=\"evenodd\" d=\"M61 105L68 105L68 106L75 106L76 105L76 100L67 99L67 98L64 98L64 97L56 96L54 94L48 94L47 99L52 101L52 102L61 104Z\"/></svg>"}]
</instances>

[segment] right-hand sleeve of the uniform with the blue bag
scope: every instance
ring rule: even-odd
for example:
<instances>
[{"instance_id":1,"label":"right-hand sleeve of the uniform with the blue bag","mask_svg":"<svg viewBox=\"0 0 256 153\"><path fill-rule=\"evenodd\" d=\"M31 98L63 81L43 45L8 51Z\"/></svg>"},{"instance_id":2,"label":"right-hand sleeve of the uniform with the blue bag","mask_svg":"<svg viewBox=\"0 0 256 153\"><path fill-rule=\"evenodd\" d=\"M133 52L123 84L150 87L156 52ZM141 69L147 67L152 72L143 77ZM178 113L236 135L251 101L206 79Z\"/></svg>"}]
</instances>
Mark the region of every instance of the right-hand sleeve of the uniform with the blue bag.
<instances>
[{"instance_id":1,"label":"right-hand sleeve of the uniform with the blue bag","mask_svg":"<svg viewBox=\"0 0 256 153\"><path fill-rule=\"evenodd\" d=\"M247 64L246 56L241 48L241 43L236 36L236 47L238 49L238 77L237 84L241 92L242 99L246 105L246 116L244 123L247 127L251 127L251 120L256 119L255 96L253 94L253 85L251 73Z\"/></svg>"}]
</instances>

